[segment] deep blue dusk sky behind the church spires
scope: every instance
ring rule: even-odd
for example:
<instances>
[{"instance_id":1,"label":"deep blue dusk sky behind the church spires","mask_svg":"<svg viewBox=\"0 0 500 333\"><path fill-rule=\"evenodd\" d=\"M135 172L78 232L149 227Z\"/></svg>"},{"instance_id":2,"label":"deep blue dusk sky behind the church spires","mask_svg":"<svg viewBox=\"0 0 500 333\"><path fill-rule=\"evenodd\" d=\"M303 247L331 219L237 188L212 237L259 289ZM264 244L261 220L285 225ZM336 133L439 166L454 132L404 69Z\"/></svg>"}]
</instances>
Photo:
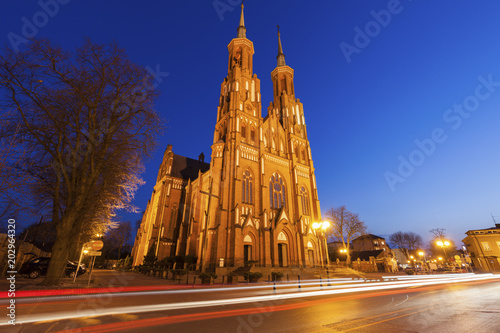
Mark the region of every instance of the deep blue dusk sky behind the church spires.
<instances>
[{"instance_id":1,"label":"deep blue dusk sky behind the church spires","mask_svg":"<svg viewBox=\"0 0 500 333\"><path fill-rule=\"evenodd\" d=\"M238 1L54 1L4 1L2 42L38 22L36 36L64 48L85 36L116 41L134 62L169 73L156 105L166 131L135 199L145 209L167 144L210 155ZM44 16L40 3L57 13L51 5ZM444 228L456 242L493 226L490 213L500 220L499 12L493 0L246 2L263 116L281 26L323 212L346 205L370 233L427 240Z\"/></svg>"}]
</instances>

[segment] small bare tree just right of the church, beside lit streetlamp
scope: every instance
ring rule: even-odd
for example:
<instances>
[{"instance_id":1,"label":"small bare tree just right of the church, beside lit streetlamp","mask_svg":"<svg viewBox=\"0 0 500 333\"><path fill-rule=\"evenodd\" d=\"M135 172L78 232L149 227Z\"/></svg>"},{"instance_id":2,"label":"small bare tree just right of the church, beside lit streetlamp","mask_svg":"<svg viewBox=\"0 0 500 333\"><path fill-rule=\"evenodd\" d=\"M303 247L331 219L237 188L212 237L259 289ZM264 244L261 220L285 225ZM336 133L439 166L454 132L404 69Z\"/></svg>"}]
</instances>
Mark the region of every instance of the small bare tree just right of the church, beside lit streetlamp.
<instances>
[{"instance_id":1,"label":"small bare tree just right of the church, beside lit streetlamp","mask_svg":"<svg viewBox=\"0 0 500 333\"><path fill-rule=\"evenodd\" d=\"M345 206L330 208L326 212L326 218L332 223L327 231L328 237L342 242L342 246L347 250L346 261L349 265L351 240L366 233L365 222L360 221L359 215L348 211Z\"/></svg>"}]
</instances>

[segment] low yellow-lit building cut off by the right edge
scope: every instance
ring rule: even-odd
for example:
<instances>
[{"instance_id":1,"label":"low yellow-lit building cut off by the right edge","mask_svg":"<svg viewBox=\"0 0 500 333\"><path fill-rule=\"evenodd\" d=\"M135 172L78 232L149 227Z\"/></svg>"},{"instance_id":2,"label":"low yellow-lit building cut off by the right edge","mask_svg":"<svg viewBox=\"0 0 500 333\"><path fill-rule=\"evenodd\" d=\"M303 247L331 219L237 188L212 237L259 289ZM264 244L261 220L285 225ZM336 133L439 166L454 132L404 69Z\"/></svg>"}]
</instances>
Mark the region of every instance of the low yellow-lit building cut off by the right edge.
<instances>
[{"instance_id":1,"label":"low yellow-lit building cut off by the right edge","mask_svg":"<svg viewBox=\"0 0 500 333\"><path fill-rule=\"evenodd\" d=\"M500 224L494 228L469 230L462 242L467 247L476 270L500 271Z\"/></svg>"}]
</instances>

